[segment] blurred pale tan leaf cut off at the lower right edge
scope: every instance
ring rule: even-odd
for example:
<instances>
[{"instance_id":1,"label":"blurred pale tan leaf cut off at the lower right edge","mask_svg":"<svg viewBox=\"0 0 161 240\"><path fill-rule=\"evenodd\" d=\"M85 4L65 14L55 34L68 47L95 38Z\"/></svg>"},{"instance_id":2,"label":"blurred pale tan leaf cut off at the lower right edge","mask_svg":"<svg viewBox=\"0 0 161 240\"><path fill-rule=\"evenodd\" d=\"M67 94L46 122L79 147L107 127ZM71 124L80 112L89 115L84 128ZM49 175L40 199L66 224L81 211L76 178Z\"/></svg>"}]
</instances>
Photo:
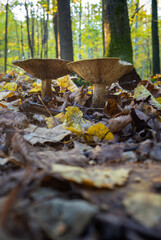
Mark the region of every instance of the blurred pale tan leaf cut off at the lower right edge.
<instances>
[{"instance_id":1,"label":"blurred pale tan leaf cut off at the lower right edge","mask_svg":"<svg viewBox=\"0 0 161 240\"><path fill-rule=\"evenodd\" d=\"M132 193L124 200L128 214L146 227L161 227L161 196L155 193Z\"/></svg>"}]
</instances>

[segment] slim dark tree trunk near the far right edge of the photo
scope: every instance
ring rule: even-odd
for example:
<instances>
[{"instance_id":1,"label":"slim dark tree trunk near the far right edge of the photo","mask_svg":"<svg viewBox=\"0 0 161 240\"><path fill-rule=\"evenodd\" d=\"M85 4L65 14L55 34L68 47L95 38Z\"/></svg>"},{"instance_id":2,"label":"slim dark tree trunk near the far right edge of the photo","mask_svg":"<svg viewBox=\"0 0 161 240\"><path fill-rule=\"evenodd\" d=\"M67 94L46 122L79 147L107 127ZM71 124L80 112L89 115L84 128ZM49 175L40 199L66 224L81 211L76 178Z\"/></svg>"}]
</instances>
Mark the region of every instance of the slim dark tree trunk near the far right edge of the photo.
<instances>
[{"instance_id":1,"label":"slim dark tree trunk near the far right edge of the photo","mask_svg":"<svg viewBox=\"0 0 161 240\"><path fill-rule=\"evenodd\" d=\"M160 73L157 0L152 0L152 61L153 75Z\"/></svg>"}]
</instances>

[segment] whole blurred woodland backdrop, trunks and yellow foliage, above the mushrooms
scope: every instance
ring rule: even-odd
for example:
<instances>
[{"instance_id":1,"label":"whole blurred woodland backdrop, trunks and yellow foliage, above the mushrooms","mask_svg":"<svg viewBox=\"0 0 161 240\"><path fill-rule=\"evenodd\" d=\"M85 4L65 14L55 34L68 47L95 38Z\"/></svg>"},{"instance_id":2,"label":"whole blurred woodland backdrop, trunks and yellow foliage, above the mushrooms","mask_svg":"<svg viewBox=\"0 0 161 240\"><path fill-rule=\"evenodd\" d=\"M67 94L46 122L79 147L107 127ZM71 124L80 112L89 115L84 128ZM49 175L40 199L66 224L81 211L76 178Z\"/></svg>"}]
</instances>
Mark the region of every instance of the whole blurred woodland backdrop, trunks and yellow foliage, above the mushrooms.
<instances>
[{"instance_id":1,"label":"whole blurred woodland backdrop, trunks and yellow foliage, above the mushrooms","mask_svg":"<svg viewBox=\"0 0 161 240\"><path fill-rule=\"evenodd\" d=\"M142 78L160 71L161 9L156 0L145 4L141 0L3 0L0 26L3 72L18 59L103 56L133 60ZM109 27L113 28L111 42ZM123 55L116 51L118 48Z\"/></svg>"}]
</instances>

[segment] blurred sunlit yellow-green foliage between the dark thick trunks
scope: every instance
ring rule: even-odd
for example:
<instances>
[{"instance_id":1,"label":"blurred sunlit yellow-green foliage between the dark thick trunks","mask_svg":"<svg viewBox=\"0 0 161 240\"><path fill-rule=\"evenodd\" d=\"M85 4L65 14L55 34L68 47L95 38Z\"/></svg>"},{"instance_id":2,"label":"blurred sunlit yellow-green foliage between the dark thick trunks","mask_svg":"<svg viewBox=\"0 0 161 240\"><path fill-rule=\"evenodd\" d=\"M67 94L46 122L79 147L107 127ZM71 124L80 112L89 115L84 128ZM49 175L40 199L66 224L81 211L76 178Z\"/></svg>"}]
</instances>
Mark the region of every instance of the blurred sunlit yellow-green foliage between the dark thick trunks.
<instances>
[{"instance_id":1,"label":"blurred sunlit yellow-green foliage between the dark thick trunks","mask_svg":"<svg viewBox=\"0 0 161 240\"><path fill-rule=\"evenodd\" d=\"M133 64L141 78L145 79L152 74L151 1L128 0L127 6ZM74 60L103 57L102 1L71 0L70 12ZM56 13L56 0L0 0L0 72L5 71L5 51L7 51L6 66L9 71L13 68L12 61L31 58L28 26L30 40L34 46L34 57L56 58L54 27ZM158 2L158 33L161 46L160 2ZM7 49L5 49L6 41Z\"/></svg>"}]
</instances>

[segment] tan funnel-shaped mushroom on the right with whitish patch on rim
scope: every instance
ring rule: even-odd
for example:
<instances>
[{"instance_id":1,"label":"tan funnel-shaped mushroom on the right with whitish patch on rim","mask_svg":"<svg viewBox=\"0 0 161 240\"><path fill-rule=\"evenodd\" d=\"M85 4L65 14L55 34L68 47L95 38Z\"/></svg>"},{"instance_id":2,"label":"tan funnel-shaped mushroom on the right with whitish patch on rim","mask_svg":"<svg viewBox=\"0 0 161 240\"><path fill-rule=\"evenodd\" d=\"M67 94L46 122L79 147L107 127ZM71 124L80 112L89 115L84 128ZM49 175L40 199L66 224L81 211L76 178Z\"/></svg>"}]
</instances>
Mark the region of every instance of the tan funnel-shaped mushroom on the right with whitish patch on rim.
<instances>
[{"instance_id":1,"label":"tan funnel-shaped mushroom on the right with whitish patch on rim","mask_svg":"<svg viewBox=\"0 0 161 240\"><path fill-rule=\"evenodd\" d=\"M68 69L93 84L93 107L103 107L107 85L133 70L131 63L119 58L96 58L67 64Z\"/></svg>"}]
</instances>

